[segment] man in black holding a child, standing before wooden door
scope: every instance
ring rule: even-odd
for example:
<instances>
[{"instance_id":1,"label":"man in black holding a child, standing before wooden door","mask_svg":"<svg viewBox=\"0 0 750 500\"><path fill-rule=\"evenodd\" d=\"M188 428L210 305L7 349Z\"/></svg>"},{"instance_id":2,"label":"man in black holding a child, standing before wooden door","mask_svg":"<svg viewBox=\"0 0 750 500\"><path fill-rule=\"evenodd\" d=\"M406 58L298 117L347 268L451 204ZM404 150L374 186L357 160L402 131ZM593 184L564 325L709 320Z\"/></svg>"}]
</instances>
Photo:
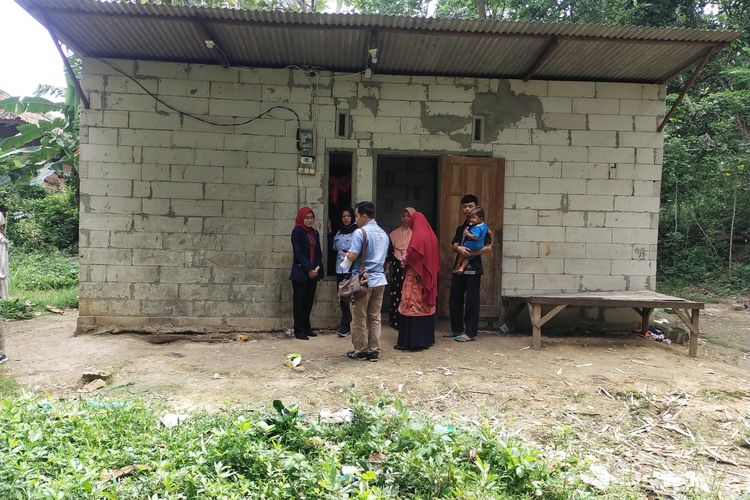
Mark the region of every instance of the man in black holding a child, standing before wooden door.
<instances>
[{"instance_id":1,"label":"man in black holding a child, standing before wooden door","mask_svg":"<svg viewBox=\"0 0 750 500\"><path fill-rule=\"evenodd\" d=\"M484 239L481 250L471 251L461 246L464 231L471 225L471 216L474 209L479 206L479 199L473 194L464 195L461 198L461 211L466 220L456 228L456 233L451 241L451 248L456 254L456 263L460 257L468 257L461 274L454 274L451 279L450 297L448 306L451 318L451 331L446 337L453 337L456 342L469 342L476 340L479 330L479 287L482 280L482 254L492 250L492 235L488 232ZM455 268L455 265L454 265Z\"/></svg>"}]
</instances>

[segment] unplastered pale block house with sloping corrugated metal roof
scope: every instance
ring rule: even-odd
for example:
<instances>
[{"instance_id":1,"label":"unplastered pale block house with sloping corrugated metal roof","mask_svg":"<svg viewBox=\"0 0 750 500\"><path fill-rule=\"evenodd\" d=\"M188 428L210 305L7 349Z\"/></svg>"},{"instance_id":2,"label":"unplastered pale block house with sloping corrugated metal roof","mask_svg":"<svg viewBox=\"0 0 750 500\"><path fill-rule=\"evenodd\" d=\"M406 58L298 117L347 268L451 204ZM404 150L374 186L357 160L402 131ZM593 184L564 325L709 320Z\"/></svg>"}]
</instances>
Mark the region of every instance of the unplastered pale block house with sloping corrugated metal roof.
<instances>
[{"instance_id":1,"label":"unplastered pale block house with sloping corrugated metal roof","mask_svg":"<svg viewBox=\"0 0 750 500\"><path fill-rule=\"evenodd\" d=\"M501 241L484 318L653 290L665 83L739 36L18 1L83 58L81 329L288 326L302 205L323 235L352 201L417 207L448 274L467 192Z\"/></svg>"}]
</instances>

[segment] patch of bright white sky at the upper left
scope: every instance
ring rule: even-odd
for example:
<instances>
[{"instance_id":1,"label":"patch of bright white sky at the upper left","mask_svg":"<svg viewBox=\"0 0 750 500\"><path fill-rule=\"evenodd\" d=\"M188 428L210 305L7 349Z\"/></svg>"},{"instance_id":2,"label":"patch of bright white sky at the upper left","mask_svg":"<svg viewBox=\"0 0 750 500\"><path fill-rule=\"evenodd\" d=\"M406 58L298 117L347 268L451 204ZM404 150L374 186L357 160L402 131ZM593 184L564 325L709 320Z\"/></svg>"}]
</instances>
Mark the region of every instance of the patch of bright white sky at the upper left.
<instances>
[{"instance_id":1,"label":"patch of bright white sky at the upper left","mask_svg":"<svg viewBox=\"0 0 750 500\"><path fill-rule=\"evenodd\" d=\"M0 89L31 95L40 83L65 86L65 67L52 38L13 0L0 0Z\"/></svg>"}]
</instances>

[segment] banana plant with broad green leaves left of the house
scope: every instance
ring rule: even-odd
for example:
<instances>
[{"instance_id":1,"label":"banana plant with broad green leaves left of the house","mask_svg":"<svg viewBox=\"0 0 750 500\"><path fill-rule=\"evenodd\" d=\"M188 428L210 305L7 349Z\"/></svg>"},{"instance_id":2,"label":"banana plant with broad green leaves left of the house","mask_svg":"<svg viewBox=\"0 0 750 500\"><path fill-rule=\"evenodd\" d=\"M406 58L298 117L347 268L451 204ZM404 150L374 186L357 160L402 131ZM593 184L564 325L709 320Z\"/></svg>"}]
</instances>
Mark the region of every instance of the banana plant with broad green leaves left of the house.
<instances>
[{"instance_id":1,"label":"banana plant with broad green leaves left of the house","mask_svg":"<svg viewBox=\"0 0 750 500\"><path fill-rule=\"evenodd\" d=\"M40 96L9 97L0 110L20 115L40 113L38 123L17 127L18 133L0 141L0 185L8 182L41 184L57 173L78 184L78 95L70 79L63 102ZM65 167L70 173L65 174Z\"/></svg>"}]
</instances>

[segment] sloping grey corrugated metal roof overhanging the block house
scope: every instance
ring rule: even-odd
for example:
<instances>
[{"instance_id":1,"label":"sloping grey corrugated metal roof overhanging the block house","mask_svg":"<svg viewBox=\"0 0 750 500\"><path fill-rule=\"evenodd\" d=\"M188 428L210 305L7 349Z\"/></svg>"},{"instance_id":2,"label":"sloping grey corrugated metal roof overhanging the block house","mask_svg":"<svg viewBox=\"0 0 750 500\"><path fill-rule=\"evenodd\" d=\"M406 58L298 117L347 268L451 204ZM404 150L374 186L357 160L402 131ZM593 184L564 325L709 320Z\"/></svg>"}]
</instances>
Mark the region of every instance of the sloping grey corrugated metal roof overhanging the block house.
<instances>
[{"instance_id":1,"label":"sloping grey corrugated metal roof overhanging the block house","mask_svg":"<svg viewBox=\"0 0 750 500\"><path fill-rule=\"evenodd\" d=\"M657 83L697 62L732 31L570 23L308 14L95 0L16 0L78 53L218 64L204 31L234 66L312 65L361 71L378 48L383 74L522 78L553 38L535 79ZM197 27L200 25L199 27Z\"/></svg>"}]
</instances>

